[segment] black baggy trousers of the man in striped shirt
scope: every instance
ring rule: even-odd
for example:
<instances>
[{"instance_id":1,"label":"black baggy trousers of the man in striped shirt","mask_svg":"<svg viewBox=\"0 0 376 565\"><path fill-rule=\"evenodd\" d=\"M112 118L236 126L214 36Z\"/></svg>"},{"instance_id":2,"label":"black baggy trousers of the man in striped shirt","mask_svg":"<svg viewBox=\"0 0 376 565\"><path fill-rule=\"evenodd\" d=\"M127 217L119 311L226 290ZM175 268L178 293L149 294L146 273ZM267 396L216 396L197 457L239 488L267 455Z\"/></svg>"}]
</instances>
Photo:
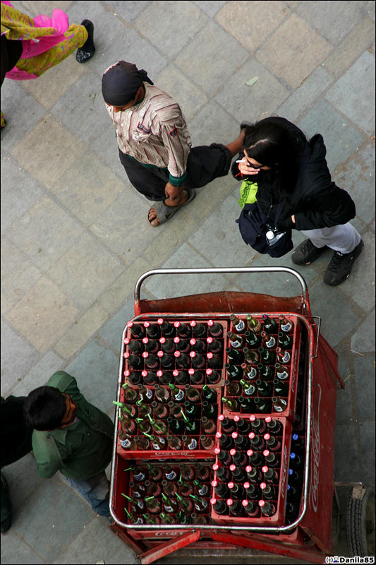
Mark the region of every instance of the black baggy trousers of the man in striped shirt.
<instances>
[{"instance_id":1,"label":"black baggy trousers of the man in striped shirt","mask_svg":"<svg viewBox=\"0 0 376 565\"><path fill-rule=\"evenodd\" d=\"M126 153L119 150L121 164L126 169L129 182L147 200L159 201L166 198L164 187L169 181L168 169L144 167ZM225 177L229 172L231 151L220 143L199 145L190 150L187 161L185 189L200 189L217 177Z\"/></svg>"}]
</instances>

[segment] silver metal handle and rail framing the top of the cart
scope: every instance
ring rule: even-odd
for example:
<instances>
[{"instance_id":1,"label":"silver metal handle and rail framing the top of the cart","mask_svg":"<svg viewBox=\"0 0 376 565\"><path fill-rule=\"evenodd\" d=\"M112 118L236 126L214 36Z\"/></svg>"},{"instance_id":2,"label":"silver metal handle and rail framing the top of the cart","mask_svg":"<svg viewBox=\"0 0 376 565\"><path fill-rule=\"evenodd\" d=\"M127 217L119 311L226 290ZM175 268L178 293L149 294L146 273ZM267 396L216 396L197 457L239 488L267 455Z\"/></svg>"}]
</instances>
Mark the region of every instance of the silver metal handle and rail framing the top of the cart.
<instances>
[{"instance_id":1,"label":"silver metal handle and rail framing the top of the cart","mask_svg":"<svg viewBox=\"0 0 376 565\"><path fill-rule=\"evenodd\" d=\"M205 273L205 274L217 274L217 273L259 273L262 271L271 271L271 272L287 272L287 273L291 273L292 275L295 275L296 278L298 278L299 282L301 283L301 287L302 287L302 291L303 291L303 300L306 302L306 304L308 304L308 311L309 311L309 303L308 303L308 290L307 290L307 286L305 284L305 280L303 279L303 277L300 275L300 273L297 273L295 270L290 269L290 268L285 268L285 267L270 267L270 268L254 268L254 267L235 267L235 268L189 268L189 269L155 269L155 270L150 270L147 271L147 273L144 273L139 279L138 282L136 283L135 286L135 304L137 304L140 300L140 287L142 285L142 282L150 277L151 275L170 275L170 274L195 274L195 273ZM122 528L127 528L127 529L132 529L132 530L216 530L216 531L220 531L220 530L239 530L239 531L248 531L248 532L264 532L264 533L284 533L287 532L289 533L289 531L293 530L293 528L296 528L296 526L303 520L303 517L305 515L305 511L307 509L307 498L308 498L308 472L309 472L309 466L310 466L310 430L311 430L311 410L312 410L312 378L313 378L313 363L312 363L312 359L313 359L313 349L314 349L314 340L315 340L315 333L313 332L313 328L312 326L310 326L310 324L308 323L307 319L305 316L301 316L300 314L296 314L296 312L292 313L291 315L296 316L298 319L301 320L302 323L305 324L305 327L307 328L307 332L308 332L308 352L310 352L310 362L308 363L308 391L307 391L307 417L306 417L306 451L305 451L305 479L304 479L304 487L303 487L303 508L301 509L301 513L299 514L298 518L296 518L296 521L294 521L293 523L289 524L289 525L280 525L280 526L267 526L267 525L218 525L218 524L211 524L211 525L188 525L188 524L159 524L159 525L150 525L150 524L140 524L140 525L136 525L136 524L127 524L127 523L122 523L119 522L116 518L116 516L114 516L114 509L113 509L113 499L114 499L114 473L111 472L111 483L110 483L110 493L109 493L109 500L110 500L110 504L109 504L109 509L110 509L110 513L112 518L114 518L114 521L116 521L116 523L118 523L119 525L121 525ZM195 316L197 317L205 317L207 318L207 314L202 314L201 316L198 316L198 314L195 314ZM210 314L211 317L216 317L216 318L223 318L224 315L222 314L219 316L213 316L212 314ZM140 316L136 316L135 318L133 318L132 321L138 321L142 318L144 318L144 315L140 315ZM160 315L154 314L154 316L152 314L148 315L149 318L159 318ZM180 318L182 317L181 313L176 313L176 314L168 314L165 316L166 318L168 317L169 319L174 319L174 318ZM127 327L126 326L124 328L123 331L123 338L124 335L126 334L127 331ZM318 343L318 334L317 334L317 343ZM118 379L118 391L117 391L117 396L116 396L116 400L117 402L119 402L120 400L120 385L121 385L121 380L122 380L122 369L121 369L121 355L120 355L120 361L119 361L119 379ZM115 429L117 429L118 427L118 423L119 423L119 411L116 410L115 412ZM112 469L115 468L115 462L116 462L116 436L114 439L114 449L113 449L113 453L112 453Z\"/></svg>"}]
</instances>

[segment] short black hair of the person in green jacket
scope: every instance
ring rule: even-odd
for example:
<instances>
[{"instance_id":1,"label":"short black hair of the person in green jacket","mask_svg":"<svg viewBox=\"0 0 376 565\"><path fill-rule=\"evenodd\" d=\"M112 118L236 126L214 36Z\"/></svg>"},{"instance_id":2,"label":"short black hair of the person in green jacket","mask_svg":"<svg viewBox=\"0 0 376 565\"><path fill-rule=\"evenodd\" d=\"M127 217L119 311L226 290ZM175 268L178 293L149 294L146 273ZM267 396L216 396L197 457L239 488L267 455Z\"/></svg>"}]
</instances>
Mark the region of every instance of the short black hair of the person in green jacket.
<instances>
[{"instance_id":1,"label":"short black hair of the person in green jacket","mask_svg":"<svg viewBox=\"0 0 376 565\"><path fill-rule=\"evenodd\" d=\"M23 413L33 429L56 429L66 413L66 398L54 386L39 386L26 398Z\"/></svg>"}]
</instances>

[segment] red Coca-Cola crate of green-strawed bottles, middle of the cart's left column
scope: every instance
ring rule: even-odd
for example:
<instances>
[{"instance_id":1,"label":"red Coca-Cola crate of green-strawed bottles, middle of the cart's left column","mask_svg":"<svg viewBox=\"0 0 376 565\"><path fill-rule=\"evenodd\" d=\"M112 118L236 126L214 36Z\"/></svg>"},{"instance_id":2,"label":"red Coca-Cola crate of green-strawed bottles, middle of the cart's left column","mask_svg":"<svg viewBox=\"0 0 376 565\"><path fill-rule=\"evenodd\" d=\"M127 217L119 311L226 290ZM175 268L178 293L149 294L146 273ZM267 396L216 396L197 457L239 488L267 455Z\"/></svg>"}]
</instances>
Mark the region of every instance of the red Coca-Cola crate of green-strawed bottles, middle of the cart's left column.
<instances>
[{"instance_id":1,"label":"red Coca-Cola crate of green-strawed bottles, middle of the cart's left column","mask_svg":"<svg viewBox=\"0 0 376 565\"><path fill-rule=\"evenodd\" d=\"M152 387L145 387L145 388L152 389ZM169 387L162 387L162 388L169 388ZM178 386L177 388L183 389L184 387ZM202 387L200 388L200 387L194 387L193 386L192 388L198 388L200 393L202 393ZM220 387L217 387L217 386L211 386L210 388L214 389L214 391L217 392L216 405L218 407L218 410L220 410L220 399L221 399L221 390L222 389ZM120 401L123 402L123 389L121 389ZM182 408L183 408L183 405L182 405ZM201 417L202 417L202 404L200 403L200 414L197 415L197 417L195 417L193 420L200 421ZM214 420L214 422L217 423L216 417L213 416L211 419ZM200 426L201 426L201 424L200 424ZM121 423L120 422L118 424L118 430L119 429L121 429ZM210 457L210 456L214 457L215 434L216 434L217 430L218 430L218 423L217 423L217 429L215 429L211 434L205 434L205 432L202 432L201 427L200 427L200 433L199 434L195 434L195 435L185 434L188 437L186 444L192 443L191 440L197 441L197 444L198 444L197 447L191 448L191 449L184 448L184 449L181 449L181 450L174 450L174 449L169 448L169 446L167 445L167 442L166 442L166 448L165 449L162 448L162 449L157 450L157 449L149 448L149 449L140 449L140 450L138 450L138 449L133 450L132 449L131 450L131 449L128 449L128 448L123 448L121 446L121 441L118 438L117 439L117 445L116 445L116 451L117 451L117 453L119 453L119 456L121 456L122 458L125 458L125 459L145 459L145 458L147 458L147 459L160 459L160 458L166 458L166 457L178 459L178 458L186 458L186 457L190 457L190 458L207 458L207 457ZM166 441L167 435L178 436L179 439L181 439L181 436L182 436L180 434L175 434L175 433L172 433L172 432L170 434L169 430L168 430L166 434L158 435L158 437L163 438L164 441ZM213 439L212 448L210 448L210 449L202 448L201 442L200 442L200 436L201 435L206 435L206 436L209 436L210 438Z\"/></svg>"}]
</instances>

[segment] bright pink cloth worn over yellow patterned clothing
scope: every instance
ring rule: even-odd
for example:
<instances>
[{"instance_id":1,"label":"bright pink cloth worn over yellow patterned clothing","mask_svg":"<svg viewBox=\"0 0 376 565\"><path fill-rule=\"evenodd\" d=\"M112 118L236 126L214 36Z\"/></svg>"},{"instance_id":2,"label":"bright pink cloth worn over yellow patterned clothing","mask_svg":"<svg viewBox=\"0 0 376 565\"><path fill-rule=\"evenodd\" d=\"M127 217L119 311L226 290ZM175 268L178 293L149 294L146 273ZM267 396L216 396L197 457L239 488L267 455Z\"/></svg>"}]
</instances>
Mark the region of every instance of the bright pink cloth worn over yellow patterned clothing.
<instances>
[{"instance_id":1,"label":"bright pink cloth worn over yellow patterned clothing","mask_svg":"<svg viewBox=\"0 0 376 565\"><path fill-rule=\"evenodd\" d=\"M6 4L13 8L10 1L1 0L1 4ZM20 57L21 59L36 57L37 55L48 51L51 47L54 47L54 45L61 43L74 35L74 32L68 36L64 35L66 30L69 28L69 18L62 10L55 9L52 12L52 18L41 14L40 16L33 18L33 23L34 28L54 28L54 31L50 35L41 35L35 39L22 40L23 52ZM27 32L27 30L25 31ZM20 32L22 32L22 29ZM37 78L37 75L33 73L26 73L25 71L19 71L17 66L15 66L11 69L11 71L6 73L6 78L11 78L13 81L25 81L30 80L31 78Z\"/></svg>"}]
</instances>

